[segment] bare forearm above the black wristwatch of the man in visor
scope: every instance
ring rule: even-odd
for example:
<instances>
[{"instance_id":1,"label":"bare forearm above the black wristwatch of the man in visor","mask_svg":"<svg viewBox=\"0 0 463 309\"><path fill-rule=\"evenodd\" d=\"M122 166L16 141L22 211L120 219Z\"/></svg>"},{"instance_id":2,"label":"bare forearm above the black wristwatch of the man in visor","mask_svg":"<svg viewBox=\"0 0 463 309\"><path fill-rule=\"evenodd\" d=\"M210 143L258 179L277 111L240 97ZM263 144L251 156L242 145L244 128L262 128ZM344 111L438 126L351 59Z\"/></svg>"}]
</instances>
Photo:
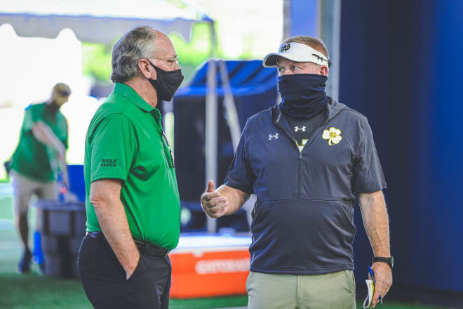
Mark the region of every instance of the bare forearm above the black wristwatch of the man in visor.
<instances>
[{"instance_id":1,"label":"bare forearm above the black wristwatch of the man in visor","mask_svg":"<svg viewBox=\"0 0 463 309\"><path fill-rule=\"evenodd\" d=\"M361 193L358 201L374 256L391 256L389 244L389 217L382 191Z\"/></svg>"}]
</instances>

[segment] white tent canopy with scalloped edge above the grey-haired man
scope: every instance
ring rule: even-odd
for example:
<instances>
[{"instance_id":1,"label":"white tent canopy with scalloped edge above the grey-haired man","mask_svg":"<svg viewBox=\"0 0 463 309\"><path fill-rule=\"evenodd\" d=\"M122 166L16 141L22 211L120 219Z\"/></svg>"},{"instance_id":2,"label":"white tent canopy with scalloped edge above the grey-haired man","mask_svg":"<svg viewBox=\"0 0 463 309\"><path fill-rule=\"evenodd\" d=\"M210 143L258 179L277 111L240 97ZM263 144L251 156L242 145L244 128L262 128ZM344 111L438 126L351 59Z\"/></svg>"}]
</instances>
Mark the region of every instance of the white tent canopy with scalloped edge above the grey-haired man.
<instances>
[{"instance_id":1,"label":"white tent canopy with scalloped edge above the grey-haired man","mask_svg":"<svg viewBox=\"0 0 463 309\"><path fill-rule=\"evenodd\" d=\"M149 25L189 40L194 22L213 21L180 0L15 0L2 4L0 25L11 24L21 37L55 38L72 29L77 39L113 43L136 25Z\"/></svg>"}]
</instances>

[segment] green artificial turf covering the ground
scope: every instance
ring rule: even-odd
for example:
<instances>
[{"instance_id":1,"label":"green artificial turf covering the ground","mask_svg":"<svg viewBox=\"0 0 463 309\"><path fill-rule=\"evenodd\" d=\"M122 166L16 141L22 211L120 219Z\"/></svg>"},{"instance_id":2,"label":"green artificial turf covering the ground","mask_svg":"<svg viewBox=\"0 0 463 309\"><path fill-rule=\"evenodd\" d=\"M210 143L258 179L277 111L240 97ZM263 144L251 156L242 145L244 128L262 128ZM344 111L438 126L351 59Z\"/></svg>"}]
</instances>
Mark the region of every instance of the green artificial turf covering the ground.
<instances>
[{"instance_id":1,"label":"green artificial turf covering the ground","mask_svg":"<svg viewBox=\"0 0 463 309\"><path fill-rule=\"evenodd\" d=\"M81 309L92 308L78 280L65 280L39 275L33 265L29 275L20 275L16 266L21 256L19 239L13 225L11 197L0 196L0 308L8 309ZM29 215L32 239L34 209ZM170 309L208 309L246 307L248 297L171 299ZM361 303L357 308L362 308ZM384 309L439 309L443 307L394 303L385 301L376 308ZM285 309L285 308L283 308ZM448 309L448 308L447 308Z\"/></svg>"}]
</instances>

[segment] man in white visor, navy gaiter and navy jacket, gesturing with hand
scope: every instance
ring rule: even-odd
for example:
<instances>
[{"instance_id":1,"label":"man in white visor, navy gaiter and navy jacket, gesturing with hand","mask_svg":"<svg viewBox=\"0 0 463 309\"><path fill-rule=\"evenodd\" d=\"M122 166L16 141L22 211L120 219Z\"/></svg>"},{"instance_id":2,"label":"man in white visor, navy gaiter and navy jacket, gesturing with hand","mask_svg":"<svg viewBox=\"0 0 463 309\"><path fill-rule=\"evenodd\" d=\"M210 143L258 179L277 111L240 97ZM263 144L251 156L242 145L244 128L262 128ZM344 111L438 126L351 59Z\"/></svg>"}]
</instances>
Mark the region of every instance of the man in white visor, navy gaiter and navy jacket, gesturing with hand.
<instances>
[{"instance_id":1,"label":"man in white visor, navy gaiter and navy jacket, gesturing with hand","mask_svg":"<svg viewBox=\"0 0 463 309\"><path fill-rule=\"evenodd\" d=\"M218 218L257 195L250 230L249 308L356 308L356 194L375 259L374 307L392 284L386 182L368 120L325 93L328 50L292 37L264 67L279 70L282 102L250 117L224 185L201 205Z\"/></svg>"}]
</instances>

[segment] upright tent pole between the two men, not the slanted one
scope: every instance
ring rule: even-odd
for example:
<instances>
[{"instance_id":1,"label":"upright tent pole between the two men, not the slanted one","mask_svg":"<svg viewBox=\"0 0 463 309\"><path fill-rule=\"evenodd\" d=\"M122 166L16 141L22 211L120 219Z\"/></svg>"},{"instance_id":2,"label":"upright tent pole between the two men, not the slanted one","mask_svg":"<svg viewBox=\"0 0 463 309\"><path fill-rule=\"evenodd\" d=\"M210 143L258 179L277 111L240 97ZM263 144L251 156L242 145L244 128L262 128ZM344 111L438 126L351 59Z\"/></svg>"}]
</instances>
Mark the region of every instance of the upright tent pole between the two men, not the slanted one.
<instances>
[{"instance_id":1,"label":"upright tent pole between the two men, not the slanted one","mask_svg":"<svg viewBox=\"0 0 463 309\"><path fill-rule=\"evenodd\" d=\"M215 69L215 47L217 39L215 36L214 22L211 20L210 36L211 48L210 59L208 63L207 72L207 93L206 93L206 134L205 145L206 148L206 188L208 180L214 180L217 187L217 84ZM217 219L207 217L206 225L208 232L217 232Z\"/></svg>"}]
</instances>

